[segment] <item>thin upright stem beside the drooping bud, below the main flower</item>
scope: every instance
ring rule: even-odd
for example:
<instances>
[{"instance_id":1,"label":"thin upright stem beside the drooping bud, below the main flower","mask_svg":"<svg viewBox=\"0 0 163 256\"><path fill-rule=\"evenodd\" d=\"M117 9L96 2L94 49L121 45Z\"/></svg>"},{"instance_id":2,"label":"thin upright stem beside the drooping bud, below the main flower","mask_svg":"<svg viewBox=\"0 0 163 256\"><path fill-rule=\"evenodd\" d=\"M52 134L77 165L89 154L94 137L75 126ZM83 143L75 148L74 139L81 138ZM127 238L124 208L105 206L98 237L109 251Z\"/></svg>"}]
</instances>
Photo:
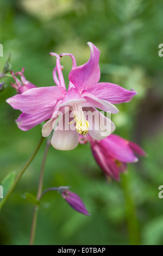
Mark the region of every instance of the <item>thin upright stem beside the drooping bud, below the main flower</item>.
<instances>
[{"instance_id":1,"label":"thin upright stem beside the drooping bud, below the main flower","mask_svg":"<svg viewBox=\"0 0 163 256\"><path fill-rule=\"evenodd\" d=\"M45 162L46 162L46 158L47 158L47 153L48 153L48 149L49 149L50 145L51 145L51 143L49 141L47 141L45 152L43 154L42 164L41 164L39 186L38 186L38 190L37 190L37 200L40 200L41 194L42 194L43 174L44 174L44 170L45 170ZM35 233L36 233L36 223L37 223L37 212L38 212L38 205L35 205L34 209L33 209L33 218L32 218L32 226L31 226L31 230L30 230L29 245L34 244Z\"/></svg>"}]
</instances>

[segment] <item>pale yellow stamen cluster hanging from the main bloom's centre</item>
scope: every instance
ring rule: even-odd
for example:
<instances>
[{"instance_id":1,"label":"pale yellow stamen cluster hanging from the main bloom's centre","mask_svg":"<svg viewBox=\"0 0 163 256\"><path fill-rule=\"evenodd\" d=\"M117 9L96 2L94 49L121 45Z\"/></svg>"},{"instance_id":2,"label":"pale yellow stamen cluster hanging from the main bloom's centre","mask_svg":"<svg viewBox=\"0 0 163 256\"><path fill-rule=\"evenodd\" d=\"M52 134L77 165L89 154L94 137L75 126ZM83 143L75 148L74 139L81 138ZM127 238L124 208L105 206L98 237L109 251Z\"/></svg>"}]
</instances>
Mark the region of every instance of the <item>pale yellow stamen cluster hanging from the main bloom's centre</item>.
<instances>
[{"instance_id":1,"label":"pale yellow stamen cluster hanging from the main bloom's centre","mask_svg":"<svg viewBox=\"0 0 163 256\"><path fill-rule=\"evenodd\" d=\"M86 137L87 132L89 131L90 125L89 125L89 121L87 121L85 118L82 105L74 104L72 106L72 113L73 113L74 121L76 122L77 132L83 135L84 137Z\"/></svg>"}]
</instances>

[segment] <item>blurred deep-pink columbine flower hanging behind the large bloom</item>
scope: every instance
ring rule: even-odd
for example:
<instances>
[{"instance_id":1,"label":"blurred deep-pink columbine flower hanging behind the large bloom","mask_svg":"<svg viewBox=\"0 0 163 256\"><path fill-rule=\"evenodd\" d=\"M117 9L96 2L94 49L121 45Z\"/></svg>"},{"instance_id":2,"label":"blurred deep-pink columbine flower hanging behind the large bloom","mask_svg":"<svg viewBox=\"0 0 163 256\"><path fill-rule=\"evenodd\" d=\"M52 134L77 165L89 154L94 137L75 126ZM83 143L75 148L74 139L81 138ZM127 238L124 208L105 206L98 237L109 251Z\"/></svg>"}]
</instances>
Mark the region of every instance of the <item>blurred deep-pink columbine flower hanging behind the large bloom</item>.
<instances>
[{"instance_id":1,"label":"blurred deep-pink columbine flower hanging behind the large bloom","mask_svg":"<svg viewBox=\"0 0 163 256\"><path fill-rule=\"evenodd\" d=\"M146 155L139 145L114 134L101 141L95 141L91 137L83 140L80 137L80 143L84 144L87 141L90 142L92 154L105 173L106 178L120 180L120 172L126 170L127 163L138 161L134 154Z\"/></svg>"}]
</instances>

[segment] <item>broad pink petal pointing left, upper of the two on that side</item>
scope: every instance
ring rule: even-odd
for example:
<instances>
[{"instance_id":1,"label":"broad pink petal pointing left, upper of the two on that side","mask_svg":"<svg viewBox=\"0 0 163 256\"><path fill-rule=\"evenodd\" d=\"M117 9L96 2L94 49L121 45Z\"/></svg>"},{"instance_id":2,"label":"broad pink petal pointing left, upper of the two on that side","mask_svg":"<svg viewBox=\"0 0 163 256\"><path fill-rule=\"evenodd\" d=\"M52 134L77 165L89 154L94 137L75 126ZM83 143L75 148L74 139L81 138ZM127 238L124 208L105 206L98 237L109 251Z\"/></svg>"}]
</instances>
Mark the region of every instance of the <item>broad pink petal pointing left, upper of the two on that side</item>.
<instances>
[{"instance_id":1,"label":"broad pink petal pointing left, upper of the two on that side","mask_svg":"<svg viewBox=\"0 0 163 256\"><path fill-rule=\"evenodd\" d=\"M56 100L62 99L66 91L63 87L40 87L27 90L7 99L12 108L20 109L26 114L34 114L46 105L55 105Z\"/></svg>"}]
</instances>

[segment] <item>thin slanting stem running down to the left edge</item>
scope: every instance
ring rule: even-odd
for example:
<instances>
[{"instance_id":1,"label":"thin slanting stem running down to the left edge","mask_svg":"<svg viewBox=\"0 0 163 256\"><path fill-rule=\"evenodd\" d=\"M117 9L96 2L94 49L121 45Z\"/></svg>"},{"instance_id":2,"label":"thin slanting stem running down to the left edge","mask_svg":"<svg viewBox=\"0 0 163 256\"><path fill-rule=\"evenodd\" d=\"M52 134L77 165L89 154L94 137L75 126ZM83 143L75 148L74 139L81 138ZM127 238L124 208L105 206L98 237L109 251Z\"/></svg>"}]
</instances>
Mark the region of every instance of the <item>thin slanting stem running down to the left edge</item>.
<instances>
[{"instance_id":1,"label":"thin slanting stem running down to the left edge","mask_svg":"<svg viewBox=\"0 0 163 256\"><path fill-rule=\"evenodd\" d=\"M0 211L3 207L3 205L5 204L5 202L7 202L8 198L10 197L10 194L12 193L12 191L14 190L14 188L17 185L17 182L21 179L21 176L23 175L23 173L25 172L25 170L27 169L27 167L29 166L29 164L32 162L32 160L34 159L35 155L37 154L37 151L39 150L42 142L43 142L43 137L41 137L39 143L37 144L37 147L34 151L34 153L32 154L32 156L30 156L29 160L27 161L27 163L24 165L24 167L20 170L20 172L18 173L14 183L12 184L12 186L10 187L8 193L6 194L6 196L4 197L4 199L2 200L2 202L0 203Z\"/></svg>"}]
</instances>

